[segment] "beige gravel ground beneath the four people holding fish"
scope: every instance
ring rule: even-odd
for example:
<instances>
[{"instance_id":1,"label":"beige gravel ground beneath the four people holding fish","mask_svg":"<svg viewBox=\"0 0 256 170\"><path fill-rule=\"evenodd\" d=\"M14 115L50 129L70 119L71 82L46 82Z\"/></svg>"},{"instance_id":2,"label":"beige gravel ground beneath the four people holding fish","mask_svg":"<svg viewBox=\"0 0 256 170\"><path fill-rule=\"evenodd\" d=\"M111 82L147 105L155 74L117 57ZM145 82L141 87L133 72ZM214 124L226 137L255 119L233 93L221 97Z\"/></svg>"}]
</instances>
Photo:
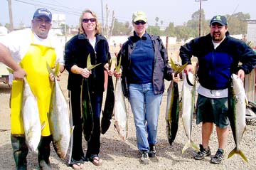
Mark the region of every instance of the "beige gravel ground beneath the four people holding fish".
<instances>
[{"instance_id":1,"label":"beige gravel ground beneath the four people holding fish","mask_svg":"<svg viewBox=\"0 0 256 170\"><path fill-rule=\"evenodd\" d=\"M68 73L63 73L60 85L63 91L67 94L66 82ZM166 83L166 87L169 83ZM9 117L9 93L8 85L0 83L0 170L15 169L14 158L12 156L11 139L10 139L10 117ZM129 106L129 103L127 102ZM100 157L103 159L102 166L94 166L90 162L86 162L83 169L256 169L256 121L253 120L247 125L247 129L240 143L240 147L245 156L249 160L245 163L240 156L234 155L228 159L228 153L235 147L233 134L230 131L228 136L228 146L225 149L225 157L221 164L210 164L210 157L201 161L193 159L192 155L196 153L195 150L189 148L184 154L181 150L186 144L187 138L181 122L179 119L178 133L175 142L170 146L166 138L166 123L165 123L165 110L166 110L166 93L164 94L161 112L159 116L158 127L158 143L156 145L157 158L151 159L149 165L139 164L139 152L137 150L136 135L134 121L131 109L128 107L128 138L124 142L119 138L117 132L114 130L113 124L106 134L101 136L101 150ZM201 142L201 125L196 125L195 119L193 120L192 139L196 144ZM86 152L86 142L83 141L83 148ZM218 141L216 132L213 132L210 138L210 148L212 156L218 149ZM68 166L68 157L65 160L60 160L55 154L53 148L50 154L50 162L53 169L68 170L72 169ZM28 153L28 169L38 169L37 156Z\"/></svg>"}]
</instances>

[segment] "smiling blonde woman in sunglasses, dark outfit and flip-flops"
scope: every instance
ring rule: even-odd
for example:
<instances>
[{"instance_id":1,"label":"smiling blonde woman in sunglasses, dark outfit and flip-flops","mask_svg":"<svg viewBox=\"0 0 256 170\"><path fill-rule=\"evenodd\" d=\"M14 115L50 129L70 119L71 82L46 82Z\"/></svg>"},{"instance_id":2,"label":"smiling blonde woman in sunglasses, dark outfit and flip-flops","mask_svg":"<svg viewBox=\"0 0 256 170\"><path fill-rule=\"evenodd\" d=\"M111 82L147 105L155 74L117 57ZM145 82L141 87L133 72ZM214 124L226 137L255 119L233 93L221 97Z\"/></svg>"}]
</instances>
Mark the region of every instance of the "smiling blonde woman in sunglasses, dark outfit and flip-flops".
<instances>
[{"instance_id":1,"label":"smiling blonde woman in sunglasses, dark outfit and flip-flops","mask_svg":"<svg viewBox=\"0 0 256 170\"><path fill-rule=\"evenodd\" d=\"M65 45L65 68L68 70L68 90L70 90L71 111L73 114L73 146L70 166L73 169L82 169L85 161L99 166L102 159L100 152L100 112L104 92L105 75L108 69L107 60L110 59L107 39L100 34L100 23L94 12L89 9L82 11L79 20L79 33ZM92 65L101 63L93 70L87 69L87 57L90 56ZM80 93L82 79L87 78L92 105L93 129L90 140L87 140L87 153L82 149L82 118L80 110Z\"/></svg>"}]
</instances>

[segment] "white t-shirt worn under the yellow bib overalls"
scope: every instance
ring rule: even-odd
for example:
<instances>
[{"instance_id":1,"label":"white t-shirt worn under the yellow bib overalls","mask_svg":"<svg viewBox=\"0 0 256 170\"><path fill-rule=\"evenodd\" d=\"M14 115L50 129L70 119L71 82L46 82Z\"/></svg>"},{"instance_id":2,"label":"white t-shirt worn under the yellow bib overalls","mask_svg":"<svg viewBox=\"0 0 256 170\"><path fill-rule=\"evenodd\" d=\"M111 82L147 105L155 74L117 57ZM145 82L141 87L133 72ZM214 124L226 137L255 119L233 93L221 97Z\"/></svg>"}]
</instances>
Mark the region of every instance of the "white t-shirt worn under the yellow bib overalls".
<instances>
[{"instance_id":1,"label":"white t-shirt worn under the yellow bib overalls","mask_svg":"<svg viewBox=\"0 0 256 170\"><path fill-rule=\"evenodd\" d=\"M14 58L14 60L16 60L17 63L19 63L27 53L28 48L32 43L31 28L12 31L11 33L1 38L0 42L9 48L11 51L11 56ZM57 55L56 63L64 65L63 48L57 38L48 34L48 38L42 39L36 36L34 33L33 43L55 48L55 53Z\"/></svg>"}]
</instances>

